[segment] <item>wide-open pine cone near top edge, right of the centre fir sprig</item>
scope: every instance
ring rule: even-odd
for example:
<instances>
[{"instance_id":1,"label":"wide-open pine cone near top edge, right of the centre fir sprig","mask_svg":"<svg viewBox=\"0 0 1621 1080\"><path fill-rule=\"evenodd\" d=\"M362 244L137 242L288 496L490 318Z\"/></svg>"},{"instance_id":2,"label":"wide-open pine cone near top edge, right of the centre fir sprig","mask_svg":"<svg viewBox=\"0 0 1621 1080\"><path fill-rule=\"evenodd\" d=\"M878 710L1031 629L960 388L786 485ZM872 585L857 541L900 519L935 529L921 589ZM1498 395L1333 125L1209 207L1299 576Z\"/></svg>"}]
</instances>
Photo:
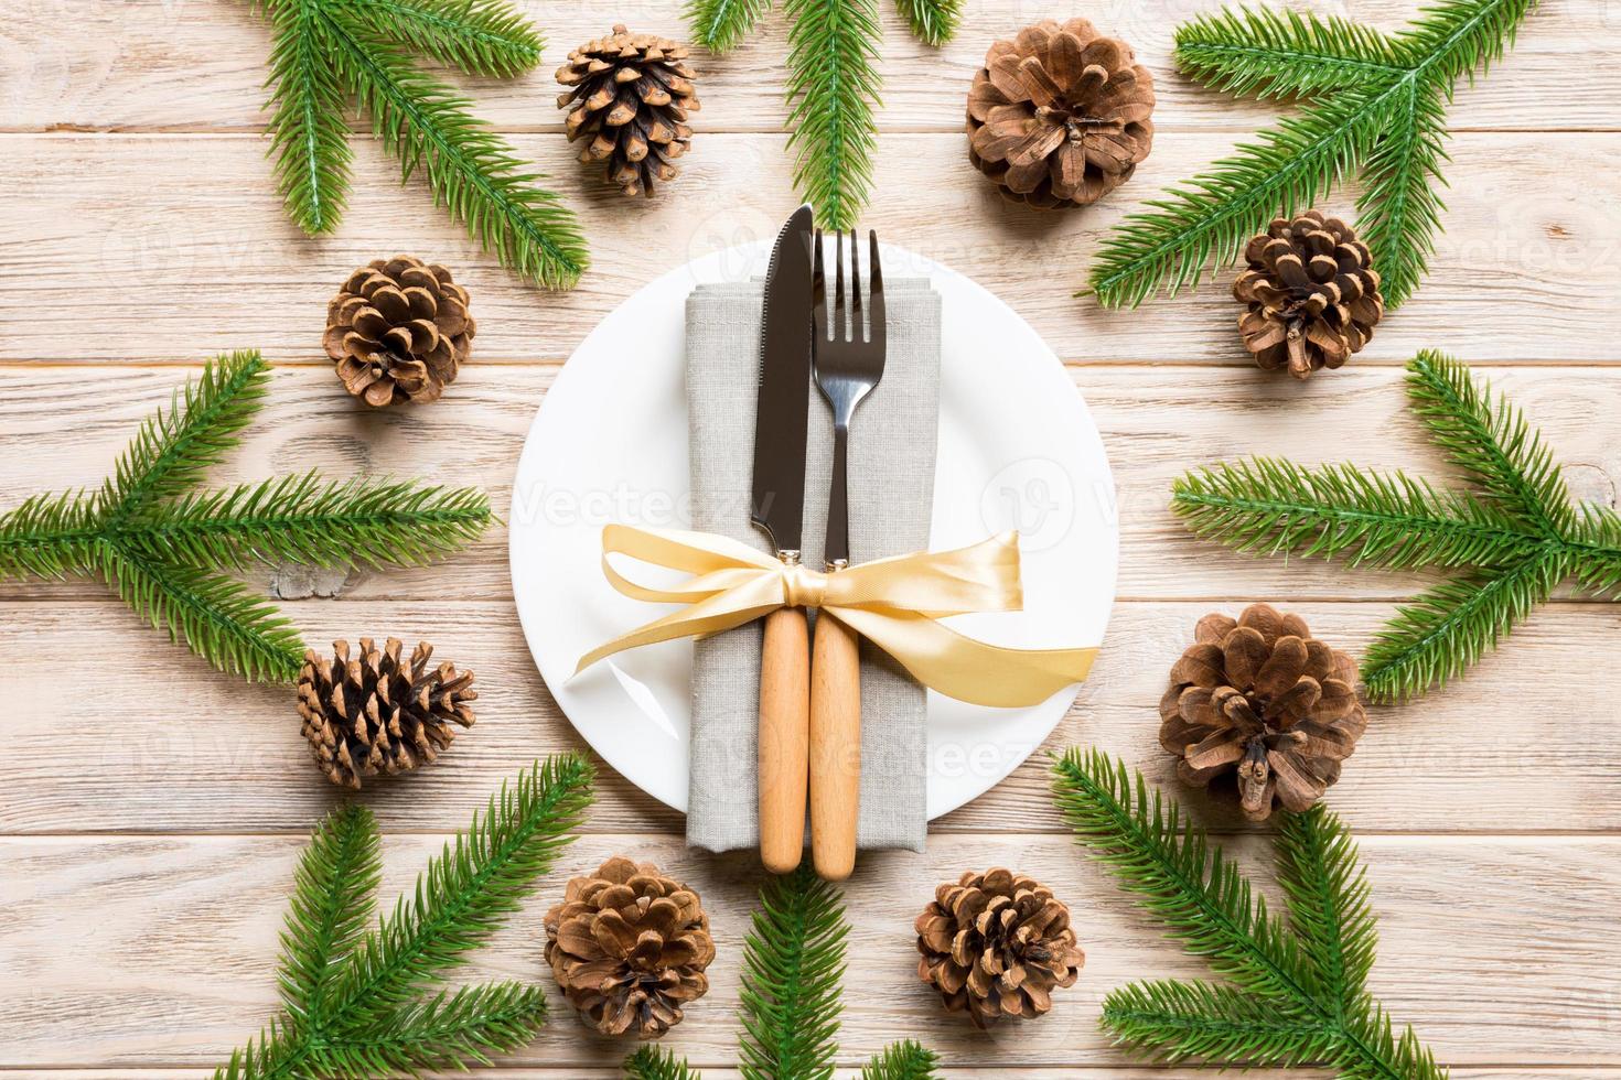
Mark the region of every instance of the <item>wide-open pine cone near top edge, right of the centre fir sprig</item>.
<instances>
[{"instance_id":1,"label":"wide-open pine cone near top edge, right of the centre fir sprig","mask_svg":"<svg viewBox=\"0 0 1621 1080\"><path fill-rule=\"evenodd\" d=\"M1028 26L986 53L968 92L968 157L1041 209L1096 202L1154 142L1154 76L1086 19Z\"/></svg>"}]
</instances>

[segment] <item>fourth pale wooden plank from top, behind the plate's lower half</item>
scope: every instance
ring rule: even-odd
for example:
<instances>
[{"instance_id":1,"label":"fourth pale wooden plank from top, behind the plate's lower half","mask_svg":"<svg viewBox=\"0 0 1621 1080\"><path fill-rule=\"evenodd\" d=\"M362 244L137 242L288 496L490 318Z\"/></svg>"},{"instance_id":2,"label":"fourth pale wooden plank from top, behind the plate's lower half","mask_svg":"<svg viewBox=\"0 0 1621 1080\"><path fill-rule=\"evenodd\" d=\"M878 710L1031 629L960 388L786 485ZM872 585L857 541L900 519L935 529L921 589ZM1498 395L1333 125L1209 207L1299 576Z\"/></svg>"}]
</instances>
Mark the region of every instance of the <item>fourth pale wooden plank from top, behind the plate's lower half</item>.
<instances>
[{"instance_id":1,"label":"fourth pale wooden plank from top, behind the plate's lower half","mask_svg":"<svg viewBox=\"0 0 1621 1080\"><path fill-rule=\"evenodd\" d=\"M1117 607L1104 653L1047 748L1097 745L1182 793L1159 748L1156 703L1193 623L1230 602ZM1386 604L1290 604L1357 654ZM366 801L394 829L441 827L483 805L537 755L582 743L524 648L511 602L310 602L293 617L311 643L389 633L430 638L478 674L477 727L433 767L378 782ZM1621 609L1556 606L1465 680L1404 708L1379 708L1332 805L1362 831L1538 832L1621 829L1613 717L1595 708L1621 635ZM104 604L0 604L0 831L303 832L336 790L308 759L293 695L214 674L133 615ZM1558 678L1550 677L1558 672ZM937 769L1000 776L1029 751L989 740L942 748ZM1188 792L1204 810L1204 798ZM438 824L425 814L439 814ZM1237 814L1209 810L1221 829ZM679 832L682 819L601 769L597 832ZM1060 832L1037 755L937 832Z\"/></svg>"}]
</instances>

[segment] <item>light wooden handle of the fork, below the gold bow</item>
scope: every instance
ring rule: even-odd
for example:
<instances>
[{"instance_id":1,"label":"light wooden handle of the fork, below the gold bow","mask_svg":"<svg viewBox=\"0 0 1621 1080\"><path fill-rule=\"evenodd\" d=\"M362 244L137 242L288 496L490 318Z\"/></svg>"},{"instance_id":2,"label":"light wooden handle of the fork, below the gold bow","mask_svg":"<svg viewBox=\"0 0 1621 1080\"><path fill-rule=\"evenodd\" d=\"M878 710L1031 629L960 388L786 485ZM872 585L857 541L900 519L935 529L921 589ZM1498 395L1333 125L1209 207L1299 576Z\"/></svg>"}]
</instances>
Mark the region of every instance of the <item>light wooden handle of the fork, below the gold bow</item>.
<instances>
[{"instance_id":1,"label":"light wooden handle of the fork, below the gold bow","mask_svg":"<svg viewBox=\"0 0 1621 1080\"><path fill-rule=\"evenodd\" d=\"M843 881L861 811L859 638L823 614L810 657L810 858L823 879Z\"/></svg>"}]
</instances>

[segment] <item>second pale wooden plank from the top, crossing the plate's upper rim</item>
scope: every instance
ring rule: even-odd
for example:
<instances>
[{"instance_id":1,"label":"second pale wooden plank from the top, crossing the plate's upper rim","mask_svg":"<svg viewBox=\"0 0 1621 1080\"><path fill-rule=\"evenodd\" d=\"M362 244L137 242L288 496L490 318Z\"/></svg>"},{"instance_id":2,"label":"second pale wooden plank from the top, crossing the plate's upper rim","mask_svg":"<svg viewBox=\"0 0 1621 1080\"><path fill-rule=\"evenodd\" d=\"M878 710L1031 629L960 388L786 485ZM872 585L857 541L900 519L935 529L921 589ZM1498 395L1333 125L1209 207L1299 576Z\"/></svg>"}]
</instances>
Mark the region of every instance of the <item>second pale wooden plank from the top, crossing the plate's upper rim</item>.
<instances>
[{"instance_id":1,"label":"second pale wooden plank from the top, crossing the plate's upper rim","mask_svg":"<svg viewBox=\"0 0 1621 1080\"><path fill-rule=\"evenodd\" d=\"M1222 134L1167 133L1106 206L1039 215L1003 202L966 162L960 134L893 134L867 225L1003 296L1067 359L1247 364L1230 274L1138 311L1071 291L1122 214L1224 155ZM358 264L399 249L456 269L480 321L478 363L566 356L611 308L689 259L775 232L793 204L776 134L712 136L687 198L627 204L579 194L567 146L520 136L582 215L595 269L546 296L499 270L431 207L420 181L361 144L344 227L308 240L285 220L253 136L0 138L0 361L196 363L258 347L319 363L326 301ZM1363 363L1444 345L1477 361L1610 361L1592 327L1611 316L1621 134L1461 134L1449 144L1451 209L1423 291L1381 325ZM1326 206L1344 209L1350 194ZM919 227L919 214L939 222ZM1577 288L1572 282L1593 282ZM88 332L94 327L94 332ZM994 358L987 358L994 364Z\"/></svg>"}]
</instances>

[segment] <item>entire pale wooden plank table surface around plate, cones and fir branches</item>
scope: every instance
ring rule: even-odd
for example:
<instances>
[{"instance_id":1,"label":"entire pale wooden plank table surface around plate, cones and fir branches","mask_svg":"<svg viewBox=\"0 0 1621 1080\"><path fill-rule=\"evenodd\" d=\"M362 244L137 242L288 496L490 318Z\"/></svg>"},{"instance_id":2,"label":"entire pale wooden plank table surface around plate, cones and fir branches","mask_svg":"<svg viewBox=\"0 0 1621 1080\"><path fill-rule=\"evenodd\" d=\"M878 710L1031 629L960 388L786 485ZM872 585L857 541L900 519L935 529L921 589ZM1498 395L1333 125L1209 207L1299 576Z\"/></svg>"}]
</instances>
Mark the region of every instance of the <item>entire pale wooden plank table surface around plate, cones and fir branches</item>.
<instances>
[{"instance_id":1,"label":"entire pale wooden plank table surface around plate, cones and fir branches","mask_svg":"<svg viewBox=\"0 0 1621 1080\"><path fill-rule=\"evenodd\" d=\"M0 26L0 507L96 484L201 361L259 348L274 387L219 479L321 466L483 484L507 478L558 364L655 275L752 240L793 206L778 78L780 15L733 57L700 58L704 112L681 180L652 202L585 175L564 142L551 71L614 21L684 32L676 0L528 0L541 71L470 86L477 108L554 176L595 266L567 295L535 291L480 253L397 167L357 138L336 236L282 214L259 112L267 34L242 0L24 0ZM1175 23L1208 0L969 0L956 44L927 50L885 3L887 108L867 222L977 279L1070 364L1120 494L1118 601L1104 654L1050 746L1094 743L1170 780L1156 743L1165 672L1213 609L1271 601L1358 651L1417 575L1253 562L1195 542L1165 508L1180 471L1245 453L1357 458L1444 476L1404 413L1401 364L1441 348L1542 424L1577 494L1615 505L1621 478L1621 3L1545 0L1514 52L1452 108L1446 233L1418 296L1350 368L1307 385L1255 371L1234 332L1230 272L1140 311L1070 293L1120 215L1227 152L1268 108L1178 78ZM1379 26L1412 0L1319 5ZM990 40L1086 15L1140 47L1159 81L1157 138L1102 206L1037 217L969 167L968 79ZM1347 193L1329 204L1349 209ZM430 408L366 413L321 353L326 300L355 266L399 251L446 262L473 295L473 363ZM987 356L987 372L995 358ZM426 570L355 575L337 597L287 594L306 638L431 638L478 672L480 722L436 767L365 798L387 832L386 895L537 755L580 748L535 672L507 580L506 536ZM319 583L318 583L319 585ZM567 612L558 612L567 619ZM1621 1078L1621 609L1561 601L1452 688L1373 721L1329 801L1354 826L1383 916L1375 993L1454 1077ZM170 646L94 583L0 586L0 1080L193 1077L276 1007L272 960L293 858L336 790L311 767L285 688L245 687ZM1089 866L1031 761L935 823L926 855L866 857L841 1064L900 1036L952 1077L1167 1077L1099 1033L1128 980L1195 976ZM1264 837L1229 818L1247 858ZM562 1007L540 915L609 853L658 861L702 891L720 960L710 996L668 1044L712 1077L736 1061L738 963L757 873L687 852L682 821L603 769L597 808L477 968L541 980L553 1022L485 1075L608 1077L624 1046ZM935 881L1015 865L1075 910L1088 967L1039 1023L982 1036L939 1012L913 973L911 920ZM1256 863L1260 866L1260 863ZM1268 876L1263 873L1263 879Z\"/></svg>"}]
</instances>

